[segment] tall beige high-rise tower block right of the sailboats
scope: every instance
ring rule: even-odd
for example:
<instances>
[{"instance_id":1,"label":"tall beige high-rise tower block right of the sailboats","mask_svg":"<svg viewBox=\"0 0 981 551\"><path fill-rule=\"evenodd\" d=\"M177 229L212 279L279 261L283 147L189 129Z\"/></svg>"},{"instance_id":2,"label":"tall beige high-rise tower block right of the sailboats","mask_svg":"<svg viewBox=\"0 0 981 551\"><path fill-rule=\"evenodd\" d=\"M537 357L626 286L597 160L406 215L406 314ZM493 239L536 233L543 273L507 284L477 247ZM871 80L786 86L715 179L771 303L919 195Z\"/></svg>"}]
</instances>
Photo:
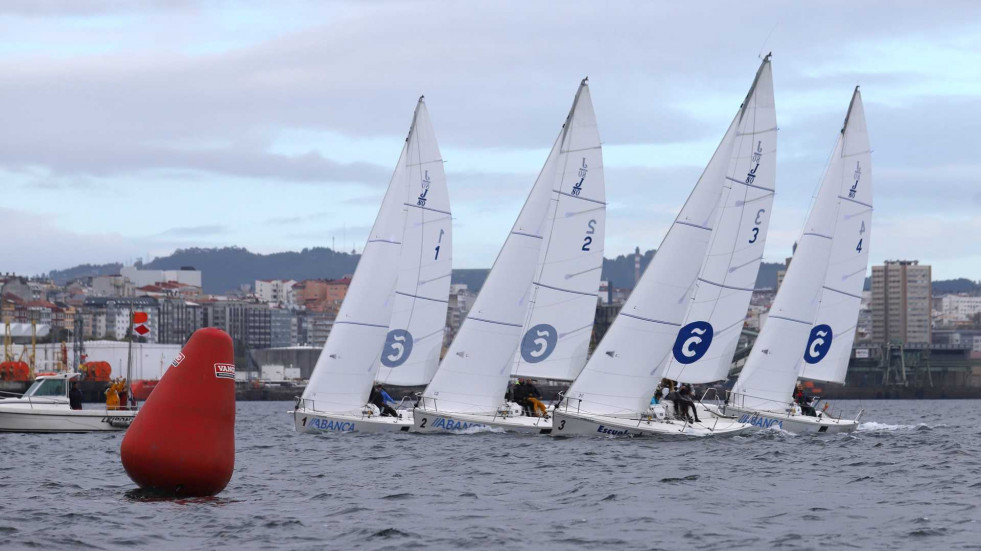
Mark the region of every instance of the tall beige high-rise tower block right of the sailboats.
<instances>
[{"instance_id":1,"label":"tall beige high-rise tower block right of the sailboats","mask_svg":"<svg viewBox=\"0 0 981 551\"><path fill-rule=\"evenodd\" d=\"M930 266L887 260L872 267L872 341L929 344L932 303Z\"/></svg>"}]
</instances>

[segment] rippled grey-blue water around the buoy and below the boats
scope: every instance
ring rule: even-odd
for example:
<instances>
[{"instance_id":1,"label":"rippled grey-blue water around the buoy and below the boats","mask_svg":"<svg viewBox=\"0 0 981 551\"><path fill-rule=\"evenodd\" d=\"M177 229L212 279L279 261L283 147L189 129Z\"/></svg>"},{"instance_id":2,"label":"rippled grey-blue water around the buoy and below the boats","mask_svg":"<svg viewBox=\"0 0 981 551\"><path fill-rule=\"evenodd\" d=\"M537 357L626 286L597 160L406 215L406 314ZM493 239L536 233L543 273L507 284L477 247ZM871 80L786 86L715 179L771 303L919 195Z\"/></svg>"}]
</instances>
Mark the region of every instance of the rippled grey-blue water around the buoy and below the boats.
<instances>
[{"instance_id":1,"label":"rippled grey-blue water around the buoy and below the boats","mask_svg":"<svg viewBox=\"0 0 981 551\"><path fill-rule=\"evenodd\" d=\"M139 497L121 434L0 434L0 548L981 549L981 401L683 442L300 435L238 405L217 498Z\"/></svg>"}]
</instances>

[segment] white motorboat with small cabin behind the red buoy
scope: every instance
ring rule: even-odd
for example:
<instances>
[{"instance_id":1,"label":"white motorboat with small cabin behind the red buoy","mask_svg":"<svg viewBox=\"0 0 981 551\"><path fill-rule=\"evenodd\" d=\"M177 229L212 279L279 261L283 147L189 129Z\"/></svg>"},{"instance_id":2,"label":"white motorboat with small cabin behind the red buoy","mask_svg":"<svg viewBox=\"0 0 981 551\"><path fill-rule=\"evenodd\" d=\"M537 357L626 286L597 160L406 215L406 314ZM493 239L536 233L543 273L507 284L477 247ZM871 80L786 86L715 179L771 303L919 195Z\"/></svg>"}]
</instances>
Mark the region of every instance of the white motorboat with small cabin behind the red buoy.
<instances>
[{"instance_id":1,"label":"white motorboat with small cabin behind the red buoy","mask_svg":"<svg viewBox=\"0 0 981 551\"><path fill-rule=\"evenodd\" d=\"M126 430L135 410L72 409L71 381L80 373L42 375L18 398L0 399L0 432L94 432Z\"/></svg>"}]
</instances>

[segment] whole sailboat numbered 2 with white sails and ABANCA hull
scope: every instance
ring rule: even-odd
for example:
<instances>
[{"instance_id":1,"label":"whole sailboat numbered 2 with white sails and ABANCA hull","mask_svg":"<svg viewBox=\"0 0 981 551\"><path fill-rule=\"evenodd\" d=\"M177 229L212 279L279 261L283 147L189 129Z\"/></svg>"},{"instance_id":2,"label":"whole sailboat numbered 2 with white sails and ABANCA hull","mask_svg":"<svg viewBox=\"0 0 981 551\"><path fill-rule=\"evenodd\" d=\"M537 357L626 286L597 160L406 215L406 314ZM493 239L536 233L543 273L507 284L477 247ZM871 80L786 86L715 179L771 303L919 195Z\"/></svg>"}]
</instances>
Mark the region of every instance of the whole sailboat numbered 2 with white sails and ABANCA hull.
<instances>
[{"instance_id":1,"label":"whole sailboat numbered 2 with white sails and ABANCA hull","mask_svg":"<svg viewBox=\"0 0 981 551\"><path fill-rule=\"evenodd\" d=\"M575 378L586 363L603 264L606 191L588 79L487 281L414 412L414 432L548 434L505 402L512 375Z\"/></svg>"}]
</instances>

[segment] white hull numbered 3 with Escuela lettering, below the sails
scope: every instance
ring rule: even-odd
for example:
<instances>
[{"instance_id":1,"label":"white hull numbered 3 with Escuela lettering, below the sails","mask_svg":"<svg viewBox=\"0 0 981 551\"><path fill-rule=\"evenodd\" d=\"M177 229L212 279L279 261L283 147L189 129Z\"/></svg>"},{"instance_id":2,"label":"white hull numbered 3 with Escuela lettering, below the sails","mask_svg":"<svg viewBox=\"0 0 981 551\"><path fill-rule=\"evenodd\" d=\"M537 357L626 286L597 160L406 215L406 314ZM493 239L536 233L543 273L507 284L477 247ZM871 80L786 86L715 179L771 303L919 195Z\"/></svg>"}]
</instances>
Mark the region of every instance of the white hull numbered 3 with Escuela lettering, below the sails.
<instances>
[{"instance_id":1,"label":"white hull numbered 3 with Escuela lettering, below the sails","mask_svg":"<svg viewBox=\"0 0 981 551\"><path fill-rule=\"evenodd\" d=\"M752 425L717 415L699 407L701 423L678 420L623 418L556 410L552 436L619 436L688 438L698 436L735 436L753 430Z\"/></svg>"}]
</instances>

